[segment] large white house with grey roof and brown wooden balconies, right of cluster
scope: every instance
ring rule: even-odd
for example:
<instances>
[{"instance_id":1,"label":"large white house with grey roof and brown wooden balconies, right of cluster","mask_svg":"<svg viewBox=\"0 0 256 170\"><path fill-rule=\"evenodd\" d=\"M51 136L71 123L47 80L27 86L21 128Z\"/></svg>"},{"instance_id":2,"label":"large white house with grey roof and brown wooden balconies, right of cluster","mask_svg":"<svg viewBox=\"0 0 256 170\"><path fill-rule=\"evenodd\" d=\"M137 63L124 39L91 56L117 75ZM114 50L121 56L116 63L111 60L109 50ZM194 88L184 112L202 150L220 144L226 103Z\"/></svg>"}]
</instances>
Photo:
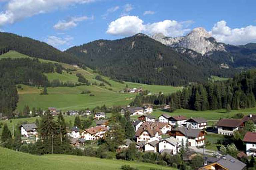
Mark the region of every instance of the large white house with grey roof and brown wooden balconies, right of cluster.
<instances>
[{"instance_id":1,"label":"large white house with grey roof and brown wooden balconies, right of cluster","mask_svg":"<svg viewBox=\"0 0 256 170\"><path fill-rule=\"evenodd\" d=\"M200 129L188 129L179 126L169 132L170 136L175 137L179 141L188 142L188 146L203 146L205 144L206 132Z\"/></svg>"}]
</instances>

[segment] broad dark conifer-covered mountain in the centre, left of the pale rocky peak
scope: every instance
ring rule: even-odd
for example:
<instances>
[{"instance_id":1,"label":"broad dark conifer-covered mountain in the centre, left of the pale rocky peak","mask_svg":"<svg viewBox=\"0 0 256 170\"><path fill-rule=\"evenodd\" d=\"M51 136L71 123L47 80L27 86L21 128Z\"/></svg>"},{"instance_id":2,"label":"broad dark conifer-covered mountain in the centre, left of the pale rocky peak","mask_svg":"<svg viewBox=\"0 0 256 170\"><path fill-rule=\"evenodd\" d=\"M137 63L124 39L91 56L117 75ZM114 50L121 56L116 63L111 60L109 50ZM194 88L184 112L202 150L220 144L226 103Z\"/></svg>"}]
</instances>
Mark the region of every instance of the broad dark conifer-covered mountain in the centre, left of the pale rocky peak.
<instances>
[{"instance_id":1,"label":"broad dark conifer-covered mountain in the centre, left of the pale rocky peak","mask_svg":"<svg viewBox=\"0 0 256 170\"><path fill-rule=\"evenodd\" d=\"M105 76L136 83L186 85L205 82L210 75L232 75L210 60L180 54L144 34L93 41L66 52Z\"/></svg>"}]
</instances>

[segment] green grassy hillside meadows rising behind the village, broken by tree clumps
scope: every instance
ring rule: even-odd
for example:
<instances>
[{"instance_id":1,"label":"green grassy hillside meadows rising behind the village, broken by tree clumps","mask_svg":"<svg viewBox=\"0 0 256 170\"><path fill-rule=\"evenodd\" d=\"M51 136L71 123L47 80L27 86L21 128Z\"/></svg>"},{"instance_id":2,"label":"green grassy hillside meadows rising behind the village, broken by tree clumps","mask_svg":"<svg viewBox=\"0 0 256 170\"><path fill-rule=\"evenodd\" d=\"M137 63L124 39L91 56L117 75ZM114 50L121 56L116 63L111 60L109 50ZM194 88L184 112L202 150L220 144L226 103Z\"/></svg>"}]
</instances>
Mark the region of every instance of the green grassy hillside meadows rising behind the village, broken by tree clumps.
<instances>
[{"instance_id":1,"label":"green grassy hillside meadows rising behind the village, broken by tree clumps","mask_svg":"<svg viewBox=\"0 0 256 170\"><path fill-rule=\"evenodd\" d=\"M27 58L29 56L17 53L15 51L9 51L6 54L0 56L2 58ZM30 58L30 57L29 57ZM53 62L48 60L39 59L41 62ZM56 62L53 62L56 63ZM182 89L182 87L173 87L173 86L164 86L164 85L144 85L138 83L130 83L124 82L119 83L113 80L110 80L108 77L102 76L102 78L108 81L112 86L105 84L105 86L99 86L101 81L95 80L95 76L99 75L93 70L87 68L87 70L83 70L81 68L76 68L72 65L59 63L65 69L73 70L72 74L67 73L67 71L63 70L62 74L58 73L48 73L45 74L49 81L53 81L55 79L59 79L62 82L73 82L78 83L78 78L76 76L77 73L81 73L89 82L96 82L98 85L82 85L76 87L48 87L49 95L39 95L43 90L42 88L37 88L33 86L22 85L23 89L18 89L18 93L20 96L18 103L18 110L23 110L24 105L29 105L32 107L41 107L46 109L50 106L54 106L61 110L69 110L69 109L83 109L83 108L93 108L95 106L102 106L106 104L107 106L112 105L126 105L131 102L132 99L136 96L134 93L119 93L120 90L124 89L126 84L128 87L142 87L143 89L147 89L152 93L159 93L162 91L165 94L175 92L177 90ZM111 88L111 90L110 90ZM90 90L92 94L95 96L89 96L89 94L80 94L82 91Z\"/></svg>"}]
</instances>

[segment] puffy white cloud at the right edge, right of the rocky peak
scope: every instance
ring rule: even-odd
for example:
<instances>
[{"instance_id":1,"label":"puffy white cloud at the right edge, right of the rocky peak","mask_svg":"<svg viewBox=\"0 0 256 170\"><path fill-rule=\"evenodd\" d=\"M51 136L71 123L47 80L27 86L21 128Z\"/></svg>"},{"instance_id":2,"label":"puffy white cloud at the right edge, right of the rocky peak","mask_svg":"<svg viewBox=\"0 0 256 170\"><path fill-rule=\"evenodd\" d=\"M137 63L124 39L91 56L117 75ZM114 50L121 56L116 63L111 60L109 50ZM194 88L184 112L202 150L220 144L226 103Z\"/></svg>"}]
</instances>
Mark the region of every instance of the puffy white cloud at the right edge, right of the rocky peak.
<instances>
[{"instance_id":1,"label":"puffy white cloud at the right edge, right of the rocky peak","mask_svg":"<svg viewBox=\"0 0 256 170\"><path fill-rule=\"evenodd\" d=\"M234 45L256 42L256 26L231 29L226 24L226 21L219 21L214 24L210 32L218 42Z\"/></svg>"}]
</instances>

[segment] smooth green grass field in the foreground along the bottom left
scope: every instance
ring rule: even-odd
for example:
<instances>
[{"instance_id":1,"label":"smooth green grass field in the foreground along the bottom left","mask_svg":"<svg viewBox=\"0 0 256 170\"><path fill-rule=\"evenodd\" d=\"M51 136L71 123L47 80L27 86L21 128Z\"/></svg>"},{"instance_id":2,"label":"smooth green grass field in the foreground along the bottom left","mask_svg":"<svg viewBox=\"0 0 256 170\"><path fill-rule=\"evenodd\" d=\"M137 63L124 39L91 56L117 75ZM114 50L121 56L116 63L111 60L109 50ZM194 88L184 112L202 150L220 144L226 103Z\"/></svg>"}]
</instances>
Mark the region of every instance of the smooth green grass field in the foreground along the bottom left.
<instances>
[{"instance_id":1,"label":"smooth green grass field in the foreground along the bottom left","mask_svg":"<svg viewBox=\"0 0 256 170\"><path fill-rule=\"evenodd\" d=\"M85 156L60 154L37 156L0 147L1 170L120 170L122 165L130 165L138 168L139 170L149 170L150 168L175 170L174 168L150 163L100 159Z\"/></svg>"}]
</instances>

